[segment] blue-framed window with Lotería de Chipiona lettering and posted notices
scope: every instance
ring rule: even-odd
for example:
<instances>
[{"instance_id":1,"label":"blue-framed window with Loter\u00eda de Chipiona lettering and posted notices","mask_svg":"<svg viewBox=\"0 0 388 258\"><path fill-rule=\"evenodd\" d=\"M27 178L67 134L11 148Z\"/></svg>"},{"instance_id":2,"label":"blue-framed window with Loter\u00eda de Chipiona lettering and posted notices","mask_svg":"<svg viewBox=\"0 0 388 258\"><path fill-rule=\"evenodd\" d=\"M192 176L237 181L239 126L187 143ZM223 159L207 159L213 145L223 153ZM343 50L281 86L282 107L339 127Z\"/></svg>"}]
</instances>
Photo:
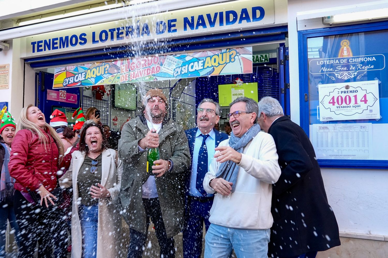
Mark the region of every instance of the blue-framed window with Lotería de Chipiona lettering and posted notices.
<instances>
[{"instance_id":1,"label":"blue-framed window with Loter\u00eda de Chipiona lettering and posted notices","mask_svg":"<svg viewBox=\"0 0 388 258\"><path fill-rule=\"evenodd\" d=\"M321 166L386 168L388 29L347 28L302 32L304 129Z\"/></svg>"}]
</instances>

